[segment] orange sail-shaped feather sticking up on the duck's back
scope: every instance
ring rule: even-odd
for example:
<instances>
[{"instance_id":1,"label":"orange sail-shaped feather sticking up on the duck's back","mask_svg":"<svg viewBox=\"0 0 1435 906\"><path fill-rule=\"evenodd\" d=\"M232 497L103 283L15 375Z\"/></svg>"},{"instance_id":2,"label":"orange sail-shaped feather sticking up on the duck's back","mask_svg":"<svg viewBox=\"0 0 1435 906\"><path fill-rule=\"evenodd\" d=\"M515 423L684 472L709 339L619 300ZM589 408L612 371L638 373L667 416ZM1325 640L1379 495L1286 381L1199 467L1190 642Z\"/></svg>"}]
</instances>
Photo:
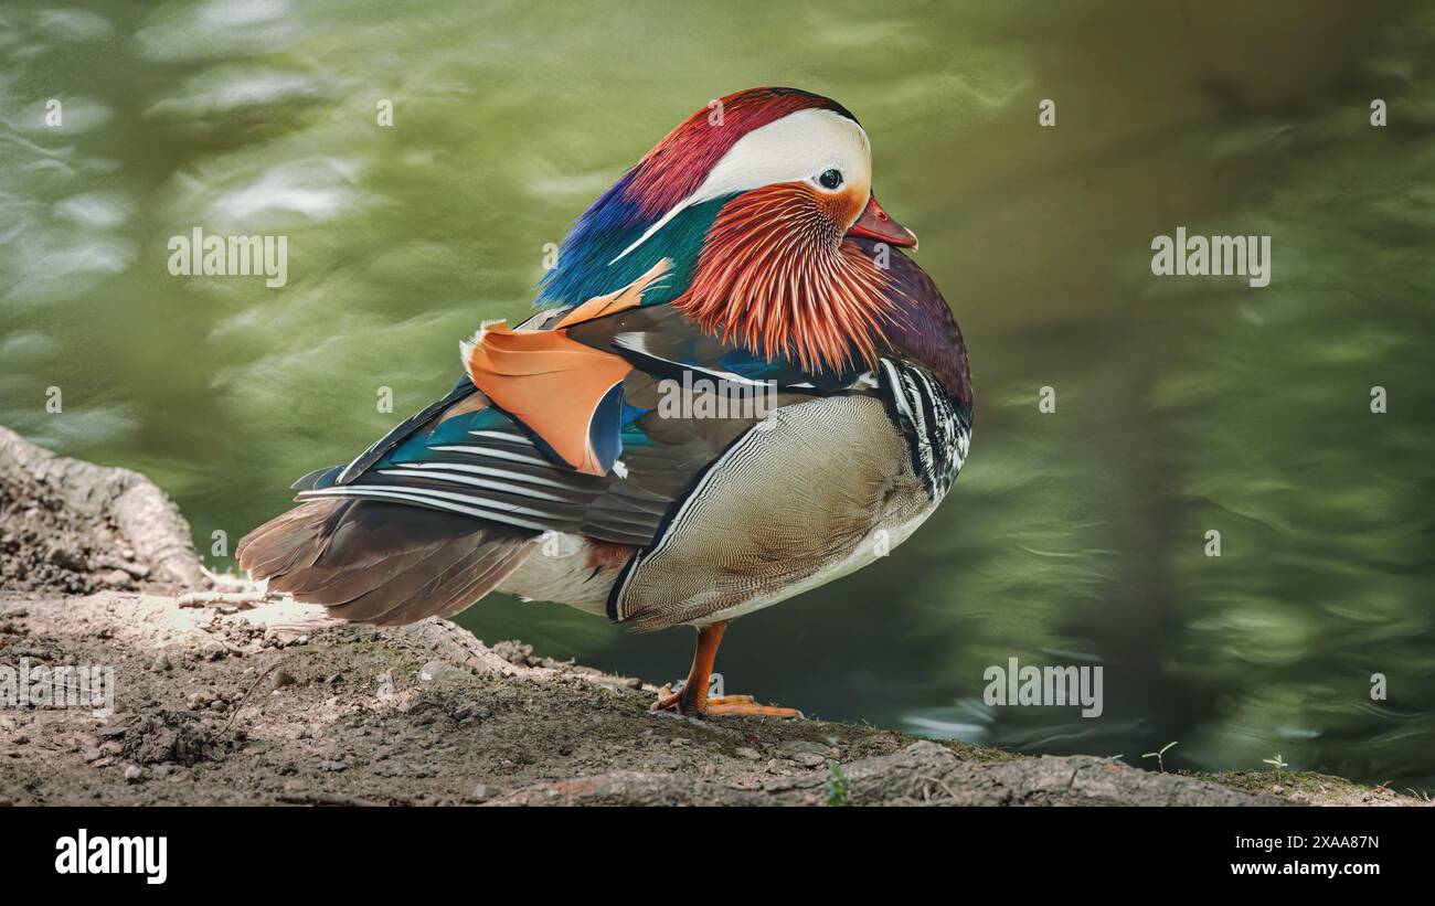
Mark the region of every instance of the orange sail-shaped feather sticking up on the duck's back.
<instances>
[{"instance_id":1,"label":"orange sail-shaped feather sticking up on the duck's back","mask_svg":"<svg viewBox=\"0 0 1435 906\"><path fill-rule=\"evenodd\" d=\"M578 472L606 475L594 449L598 404L633 370L624 358L568 338L568 328L643 304L643 292L667 274L666 258L617 292L598 295L565 314L552 330L509 330L485 324L461 347L474 386L521 420Z\"/></svg>"}]
</instances>

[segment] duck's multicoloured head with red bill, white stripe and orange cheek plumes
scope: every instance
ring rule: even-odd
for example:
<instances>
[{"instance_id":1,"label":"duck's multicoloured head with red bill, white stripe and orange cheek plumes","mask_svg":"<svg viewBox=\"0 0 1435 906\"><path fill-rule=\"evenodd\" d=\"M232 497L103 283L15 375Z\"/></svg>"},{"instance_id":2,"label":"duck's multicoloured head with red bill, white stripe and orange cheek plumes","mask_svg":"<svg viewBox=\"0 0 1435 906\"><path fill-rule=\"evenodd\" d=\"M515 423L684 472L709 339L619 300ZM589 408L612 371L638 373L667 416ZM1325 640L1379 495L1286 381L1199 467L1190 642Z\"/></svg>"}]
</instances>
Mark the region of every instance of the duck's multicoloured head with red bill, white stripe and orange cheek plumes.
<instances>
[{"instance_id":1,"label":"duck's multicoloured head with red bill, white stripe and orange cheek plumes","mask_svg":"<svg viewBox=\"0 0 1435 906\"><path fill-rule=\"evenodd\" d=\"M872 195L867 132L828 97L751 89L689 116L578 218L540 304L611 292L669 258L647 304L839 368L871 356L888 315L888 281L850 237L917 245Z\"/></svg>"}]
</instances>

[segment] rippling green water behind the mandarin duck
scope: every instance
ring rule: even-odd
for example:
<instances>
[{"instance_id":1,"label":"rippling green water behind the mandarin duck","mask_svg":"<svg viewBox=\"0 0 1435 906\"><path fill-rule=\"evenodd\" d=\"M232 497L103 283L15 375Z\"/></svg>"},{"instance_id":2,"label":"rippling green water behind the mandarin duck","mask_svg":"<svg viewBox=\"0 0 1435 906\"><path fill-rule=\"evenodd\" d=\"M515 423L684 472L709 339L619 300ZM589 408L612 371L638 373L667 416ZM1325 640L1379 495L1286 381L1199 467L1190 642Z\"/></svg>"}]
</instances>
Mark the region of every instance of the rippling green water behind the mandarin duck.
<instances>
[{"instance_id":1,"label":"rippling green water behind the mandarin duck","mask_svg":"<svg viewBox=\"0 0 1435 906\"><path fill-rule=\"evenodd\" d=\"M0 60L0 423L146 472L204 550L442 393L682 116L794 85L867 126L967 334L976 437L894 556L733 626L728 690L1435 786L1428 6L10 4ZM1152 277L1181 225L1270 235L1271 284ZM288 284L171 277L194 226L288 237ZM653 680L692 644L498 598L462 622ZM1012 657L1104 667L1102 717L986 707Z\"/></svg>"}]
</instances>

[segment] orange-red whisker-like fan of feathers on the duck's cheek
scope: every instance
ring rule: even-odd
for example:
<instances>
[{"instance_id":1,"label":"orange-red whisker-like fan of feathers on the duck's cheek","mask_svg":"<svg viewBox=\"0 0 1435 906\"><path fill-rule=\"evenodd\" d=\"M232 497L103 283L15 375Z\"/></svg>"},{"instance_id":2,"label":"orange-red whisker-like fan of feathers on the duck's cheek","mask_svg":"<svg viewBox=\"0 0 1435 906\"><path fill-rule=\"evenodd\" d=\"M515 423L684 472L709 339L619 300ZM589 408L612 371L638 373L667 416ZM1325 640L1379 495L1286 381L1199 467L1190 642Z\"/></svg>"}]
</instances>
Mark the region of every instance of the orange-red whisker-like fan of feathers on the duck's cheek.
<instances>
[{"instance_id":1,"label":"orange-red whisker-like fan of feathers on the duck's cheek","mask_svg":"<svg viewBox=\"0 0 1435 906\"><path fill-rule=\"evenodd\" d=\"M746 192L713 221L693 282L673 305L723 341L769 360L789 356L804 370L841 370L854 347L874 361L891 314L887 278L839 232L864 201L805 183Z\"/></svg>"}]
</instances>

